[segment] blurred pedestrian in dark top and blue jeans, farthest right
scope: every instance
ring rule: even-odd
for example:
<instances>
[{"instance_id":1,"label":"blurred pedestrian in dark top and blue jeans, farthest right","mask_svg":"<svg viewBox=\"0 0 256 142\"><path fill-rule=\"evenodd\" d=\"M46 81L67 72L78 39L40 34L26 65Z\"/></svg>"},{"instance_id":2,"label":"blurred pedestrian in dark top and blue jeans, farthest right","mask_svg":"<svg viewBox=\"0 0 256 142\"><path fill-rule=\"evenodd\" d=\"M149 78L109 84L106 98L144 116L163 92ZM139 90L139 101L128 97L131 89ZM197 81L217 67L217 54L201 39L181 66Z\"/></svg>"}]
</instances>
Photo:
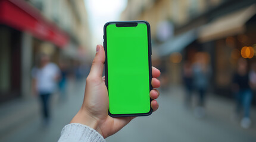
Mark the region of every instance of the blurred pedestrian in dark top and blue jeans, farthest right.
<instances>
[{"instance_id":1,"label":"blurred pedestrian in dark top and blue jeans, farthest right","mask_svg":"<svg viewBox=\"0 0 256 142\"><path fill-rule=\"evenodd\" d=\"M236 96L236 115L239 116L243 108L242 128L251 126L250 108L252 102L252 91L249 86L248 63L245 59L238 60L238 70L233 76L233 92Z\"/></svg>"}]
</instances>

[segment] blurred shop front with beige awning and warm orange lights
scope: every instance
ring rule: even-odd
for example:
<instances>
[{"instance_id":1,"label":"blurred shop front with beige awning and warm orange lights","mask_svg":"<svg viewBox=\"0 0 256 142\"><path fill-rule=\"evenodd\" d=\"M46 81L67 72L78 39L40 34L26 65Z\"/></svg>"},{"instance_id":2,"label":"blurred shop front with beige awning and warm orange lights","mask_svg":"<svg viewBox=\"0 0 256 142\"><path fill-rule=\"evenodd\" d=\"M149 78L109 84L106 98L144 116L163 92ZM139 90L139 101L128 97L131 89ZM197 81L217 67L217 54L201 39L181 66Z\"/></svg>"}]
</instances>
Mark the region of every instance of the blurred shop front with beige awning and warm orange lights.
<instances>
[{"instance_id":1,"label":"blurred shop front with beige awning and warm orange lights","mask_svg":"<svg viewBox=\"0 0 256 142\"><path fill-rule=\"evenodd\" d=\"M232 97L233 74L237 70L238 59L248 62L248 70L256 62L256 7L251 5L217 18L199 32L199 41L204 50L211 50L213 59L214 92ZM210 46L207 46L210 45ZM242 49L248 47L248 50ZM250 50L253 49L253 50Z\"/></svg>"}]
</instances>

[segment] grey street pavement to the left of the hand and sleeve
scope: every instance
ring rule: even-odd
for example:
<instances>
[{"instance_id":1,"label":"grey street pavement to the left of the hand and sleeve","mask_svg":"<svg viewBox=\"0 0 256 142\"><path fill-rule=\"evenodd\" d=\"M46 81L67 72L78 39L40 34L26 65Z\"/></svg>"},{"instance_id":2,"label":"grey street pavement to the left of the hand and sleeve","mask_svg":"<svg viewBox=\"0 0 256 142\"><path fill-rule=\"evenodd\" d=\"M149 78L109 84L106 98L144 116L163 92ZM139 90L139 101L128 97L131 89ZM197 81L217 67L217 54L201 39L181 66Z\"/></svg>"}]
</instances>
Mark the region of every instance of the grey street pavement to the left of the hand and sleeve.
<instances>
[{"instance_id":1,"label":"grey street pavement to the left of the hand and sleeve","mask_svg":"<svg viewBox=\"0 0 256 142\"><path fill-rule=\"evenodd\" d=\"M0 105L0 141L57 141L61 129L70 122L82 104L85 82L77 85L71 80L67 86L65 100L60 100L58 94L52 95L52 121L47 127L41 120L38 98L15 99ZM65 114L65 111L69 113Z\"/></svg>"}]
</instances>

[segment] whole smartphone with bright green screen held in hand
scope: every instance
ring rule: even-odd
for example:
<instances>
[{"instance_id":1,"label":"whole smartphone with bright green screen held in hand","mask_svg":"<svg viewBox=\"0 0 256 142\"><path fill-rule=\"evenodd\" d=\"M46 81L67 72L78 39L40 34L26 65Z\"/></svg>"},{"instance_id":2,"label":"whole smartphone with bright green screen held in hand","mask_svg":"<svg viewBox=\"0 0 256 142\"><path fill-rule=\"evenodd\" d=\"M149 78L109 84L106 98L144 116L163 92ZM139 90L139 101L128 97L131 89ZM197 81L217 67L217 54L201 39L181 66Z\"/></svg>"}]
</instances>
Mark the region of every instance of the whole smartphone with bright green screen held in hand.
<instances>
[{"instance_id":1,"label":"whole smartphone with bright green screen held in hand","mask_svg":"<svg viewBox=\"0 0 256 142\"><path fill-rule=\"evenodd\" d=\"M105 83L111 117L152 113L151 36L146 21L107 22L104 25Z\"/></svg>"}]
</instances>

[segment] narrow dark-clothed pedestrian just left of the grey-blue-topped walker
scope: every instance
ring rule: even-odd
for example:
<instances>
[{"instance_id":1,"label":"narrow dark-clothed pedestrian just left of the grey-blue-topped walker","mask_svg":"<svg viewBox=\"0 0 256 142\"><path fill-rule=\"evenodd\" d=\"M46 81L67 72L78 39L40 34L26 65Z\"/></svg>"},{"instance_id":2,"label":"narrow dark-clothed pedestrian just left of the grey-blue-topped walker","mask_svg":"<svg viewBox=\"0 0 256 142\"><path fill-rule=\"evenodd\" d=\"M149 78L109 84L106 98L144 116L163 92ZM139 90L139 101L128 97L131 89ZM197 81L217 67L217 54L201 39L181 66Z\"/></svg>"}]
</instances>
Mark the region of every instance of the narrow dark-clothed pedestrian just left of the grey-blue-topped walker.
<instances>
[{"instance_id":1,"label":"narrow dark-clothed pedestrian just left of the grey-blue-topped walker","mask_svg":"<svg viewBox=\"0 0 256 142\"><path fill-rule=\"evenodd\" d=\"M193 70L192 64L189 61L186 61L183 65L183 83L186 89L185 106L189 108L193 91Z\"/></svg>"}]
</instances>

